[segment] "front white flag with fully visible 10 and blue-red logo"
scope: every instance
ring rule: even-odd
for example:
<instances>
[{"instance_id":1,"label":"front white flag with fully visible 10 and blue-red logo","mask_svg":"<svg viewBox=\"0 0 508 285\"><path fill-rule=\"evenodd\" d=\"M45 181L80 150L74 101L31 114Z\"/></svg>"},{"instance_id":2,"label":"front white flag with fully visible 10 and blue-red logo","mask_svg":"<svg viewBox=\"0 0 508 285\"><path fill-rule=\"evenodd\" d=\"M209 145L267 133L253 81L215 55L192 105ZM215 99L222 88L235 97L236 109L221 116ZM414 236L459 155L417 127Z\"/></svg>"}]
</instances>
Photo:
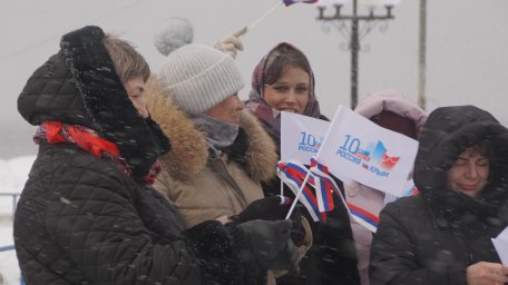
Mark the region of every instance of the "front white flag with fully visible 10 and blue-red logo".
<instances>
[{"instance_id":1,"label":"front white flag with fully visible 10 and blue-red logo","mask_svg":"<svg viewBox=\"0 0 508 285\"><path fill-rule=\"evenodd\" d=\"M402 196L418 141L339 107L315 159L344 180Z\"/></svg>"}]
</instances>

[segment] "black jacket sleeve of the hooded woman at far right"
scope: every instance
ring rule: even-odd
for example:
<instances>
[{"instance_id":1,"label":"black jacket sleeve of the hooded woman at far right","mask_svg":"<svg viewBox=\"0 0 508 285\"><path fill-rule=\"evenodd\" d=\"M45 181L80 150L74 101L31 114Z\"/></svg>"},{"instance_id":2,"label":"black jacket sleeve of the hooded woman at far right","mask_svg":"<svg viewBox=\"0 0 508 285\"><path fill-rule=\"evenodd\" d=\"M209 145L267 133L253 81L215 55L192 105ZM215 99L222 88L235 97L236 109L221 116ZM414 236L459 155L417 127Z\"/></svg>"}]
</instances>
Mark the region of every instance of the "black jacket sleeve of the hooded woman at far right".
<instances>
[{"instance_id":1,"label":"black jacket sleeve of the hooded woman at far right","mask_svg":"<svg viewBox=\"0 0 508 285\"><path fill-rule=\"evenodd\" d=\"M372 239L370 284L466 284L463 266L451 265L433 269L421 267L416 250L418 240L413 237L424 233L411 233L408 219L403 219L408 214L401 210L397 202L388 204L381 210L380 224ZM418 223L416 218L411 222Z\"/></svg>"}]
</instances>

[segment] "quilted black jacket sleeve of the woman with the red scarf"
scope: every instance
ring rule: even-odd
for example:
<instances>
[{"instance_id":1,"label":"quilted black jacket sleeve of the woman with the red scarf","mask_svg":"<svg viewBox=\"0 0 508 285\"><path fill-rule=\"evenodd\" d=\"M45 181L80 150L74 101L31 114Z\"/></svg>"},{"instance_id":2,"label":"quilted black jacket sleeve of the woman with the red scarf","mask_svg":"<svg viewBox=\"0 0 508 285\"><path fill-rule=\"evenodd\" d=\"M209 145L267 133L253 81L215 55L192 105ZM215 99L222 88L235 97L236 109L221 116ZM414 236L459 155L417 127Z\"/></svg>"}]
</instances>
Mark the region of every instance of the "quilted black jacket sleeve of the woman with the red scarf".
<instances>
[{"instance_id":1,"label":"quilted black jacket sleeve of the woman with the red scarf","mask_svg":"<svg viewBox=\"0 0 508 285\"><path fill-rule=\"evenodd\" d=\"M91 283L245 284L223 225L212 222L182 232L179 217L164 199L136 194L153 189L136 187L130 178L90 171L81 173L78 184L55 186L58 195L48 200L45 220L55 242ZM160 212L147 218L135 206L139 199ZM163 229L154 233L147 224Z\"/></svg>"}]
</instances>

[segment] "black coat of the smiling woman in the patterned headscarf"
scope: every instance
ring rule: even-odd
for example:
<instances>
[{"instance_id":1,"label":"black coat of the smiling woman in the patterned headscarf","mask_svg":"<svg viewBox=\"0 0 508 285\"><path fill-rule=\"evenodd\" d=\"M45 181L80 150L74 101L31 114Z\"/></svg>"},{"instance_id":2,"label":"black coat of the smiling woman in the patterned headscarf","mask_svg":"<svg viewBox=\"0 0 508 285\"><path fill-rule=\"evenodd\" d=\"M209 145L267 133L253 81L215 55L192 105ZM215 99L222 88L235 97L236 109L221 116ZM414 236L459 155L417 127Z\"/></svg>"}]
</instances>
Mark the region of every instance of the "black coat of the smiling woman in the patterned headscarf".
<instances>
[{"instance_id":1,"label":"black coat of the smiling woman in the patterned headscarf","mask_svg":"<svg viewBox=\"0 0 508 285\"><path fill-rule=\"evenodd\" d=\"M321 119L329 120L324 116ZM268 134L272 134L266 128ZM277 136L272 135L280 148ZM279 150L279 154L281 151ZM340 190L344 193L342 181L334 178ZM279 177L263 185L265 196L279 195ZM284 186L284 195L294 198L291 189ZM300 276L284 275L277 278L277 285L356 285L360 275L356 267L356 252L348 210L341 198L333 195L334 209L326 213L326 223L313 222L306 209L302 214L312 229L312 247L300 262Z\"/></svg>"}]
</instances>

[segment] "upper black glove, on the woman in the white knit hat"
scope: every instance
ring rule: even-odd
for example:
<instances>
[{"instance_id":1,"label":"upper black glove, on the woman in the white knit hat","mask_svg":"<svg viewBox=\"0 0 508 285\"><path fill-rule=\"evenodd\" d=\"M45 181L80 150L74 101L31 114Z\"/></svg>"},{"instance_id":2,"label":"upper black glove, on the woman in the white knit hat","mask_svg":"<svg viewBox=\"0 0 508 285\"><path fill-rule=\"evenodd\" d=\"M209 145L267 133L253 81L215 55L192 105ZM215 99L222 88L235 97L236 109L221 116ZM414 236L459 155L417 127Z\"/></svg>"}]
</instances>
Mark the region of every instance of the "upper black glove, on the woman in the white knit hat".
<instances>
[{"instance_id":1,"label":"upper black glove, on the woman in the white knit hat","mask_svg":"<svg viewBox=\"0 0 508 285\"><path fill-rule=\"evenodd\" d=\"M290 208L290 198L279 195L271 196L248 204L242 213L232 216L231 219L236 223L245 223L254 219L285 219Z\"/></svg>"}]
</instances>

